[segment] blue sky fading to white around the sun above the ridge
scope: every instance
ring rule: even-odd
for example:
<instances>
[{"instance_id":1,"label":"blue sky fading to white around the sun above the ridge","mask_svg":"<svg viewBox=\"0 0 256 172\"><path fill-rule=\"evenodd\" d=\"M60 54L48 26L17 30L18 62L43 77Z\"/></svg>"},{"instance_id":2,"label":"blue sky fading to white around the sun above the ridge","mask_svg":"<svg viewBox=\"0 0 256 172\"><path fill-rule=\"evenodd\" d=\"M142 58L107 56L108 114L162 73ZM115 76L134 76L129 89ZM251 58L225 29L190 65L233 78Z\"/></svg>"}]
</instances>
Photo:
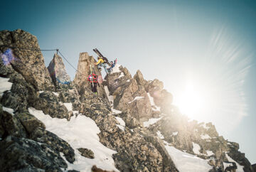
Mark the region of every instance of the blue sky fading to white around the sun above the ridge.
<instances>
[{"instance_id":1,"label":"blue sky fading to white around the sun above the ridge","mask_svg":"<svg viewBox=\"0 0 256 172\"><path fill-rule=\"evenodd\" d=\"M179 100L183 112L212 121L256 163L253 1L2 1L0 18L1 30L28 31L75 67L79 53L98 48L132 75L139 69L146 80L163 81L174 102L193 87L186 100L207 108L187 114ZM48 65L53 53L43 55Z\"/></svg>"}]
</instances>

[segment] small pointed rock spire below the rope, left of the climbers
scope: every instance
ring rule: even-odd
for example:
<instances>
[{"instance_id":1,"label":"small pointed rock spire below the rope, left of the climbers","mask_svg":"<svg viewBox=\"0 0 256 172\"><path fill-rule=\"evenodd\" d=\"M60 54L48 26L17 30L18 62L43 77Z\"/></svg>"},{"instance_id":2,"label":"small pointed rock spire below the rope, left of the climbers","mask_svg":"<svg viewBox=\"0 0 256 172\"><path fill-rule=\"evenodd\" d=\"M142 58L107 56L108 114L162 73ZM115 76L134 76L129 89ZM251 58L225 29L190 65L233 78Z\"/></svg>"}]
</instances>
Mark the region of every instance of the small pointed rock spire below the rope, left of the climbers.
<instances>
[{"instance_id":1,"label":"small pointed rock spire below the rope, left of the climbers","mask_svg":"<svg viewBox=\"0 0 256 172\"><path fill-rule=\"evenodd\" d=\"M50 73L50 77L53 80L53 84L55 85L56 90L66 90L70 87L70 84L72 83L70 76L65 71L63 60L58 54L54 54L53 60L50 61L47 69Z\"/></svg>"}]
</instances>

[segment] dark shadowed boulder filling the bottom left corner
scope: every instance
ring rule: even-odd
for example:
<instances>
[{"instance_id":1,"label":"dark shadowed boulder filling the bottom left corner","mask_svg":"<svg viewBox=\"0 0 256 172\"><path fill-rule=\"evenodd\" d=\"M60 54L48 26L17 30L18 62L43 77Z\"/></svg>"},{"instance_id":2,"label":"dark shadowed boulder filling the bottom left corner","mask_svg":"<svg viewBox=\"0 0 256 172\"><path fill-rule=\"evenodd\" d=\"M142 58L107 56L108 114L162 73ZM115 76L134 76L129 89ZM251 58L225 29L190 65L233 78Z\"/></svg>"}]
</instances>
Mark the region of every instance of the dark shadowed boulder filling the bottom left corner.
<instances>
[{"instance_id":1,"label":"dark shadowed boulder filling the bottom left corner","mask_svg":"<svg viewBox=\"0 0 256 172\"><path fill-rule=\"evenodd\" d=\"M8 136L0 142L1 171L62 171L67 164L47 144Z\"/></svg>"}]
</instances>

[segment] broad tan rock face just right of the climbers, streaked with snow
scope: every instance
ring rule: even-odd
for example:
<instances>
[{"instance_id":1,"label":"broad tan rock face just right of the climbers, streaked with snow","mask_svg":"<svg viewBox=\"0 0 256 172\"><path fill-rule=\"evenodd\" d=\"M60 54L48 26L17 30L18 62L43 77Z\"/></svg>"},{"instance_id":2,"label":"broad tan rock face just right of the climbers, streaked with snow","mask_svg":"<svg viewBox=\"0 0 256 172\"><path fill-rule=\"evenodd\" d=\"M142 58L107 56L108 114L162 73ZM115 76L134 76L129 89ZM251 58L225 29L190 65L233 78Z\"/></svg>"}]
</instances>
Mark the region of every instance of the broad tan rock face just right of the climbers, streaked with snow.
<instances>
[{"instance_id":1,"label":"broad tan rock face just right of the climbers, streaked with snow","mask_svg":"<svg viewBox=\"0 0 256 172\"><path fill-rule=\"evenodd\" d=\"M116 67L117 68L117 67ZM142 85L132 79L126 68L107 76L107 87L113 96L114 109L132 114L138 121L144 122L152 117L151 102Z\"/></svg>"}]
</instances>

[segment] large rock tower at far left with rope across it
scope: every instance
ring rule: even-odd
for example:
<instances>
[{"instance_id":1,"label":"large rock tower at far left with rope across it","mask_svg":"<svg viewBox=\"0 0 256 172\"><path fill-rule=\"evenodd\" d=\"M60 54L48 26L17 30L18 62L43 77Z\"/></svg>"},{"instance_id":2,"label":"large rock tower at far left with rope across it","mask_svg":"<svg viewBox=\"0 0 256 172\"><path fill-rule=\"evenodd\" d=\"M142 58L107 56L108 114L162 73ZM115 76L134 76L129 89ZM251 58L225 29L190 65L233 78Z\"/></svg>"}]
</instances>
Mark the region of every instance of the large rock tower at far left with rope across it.
<instances>
[{"instance_id":1,"label":"large rock tower at far left with rope across it","mask_svg":"<svg viewBox=\"0 0 256 172\"><path fill-rule=\"evenodd\" d=\"M36 36L21 29L16 31L1 31L0 45L31 49L40 48ZM0 47L0 50L1 53L5 53L8 48ZM41 51L12 48L12 54L14 58L9 63L36 90L53 90L53 82L44 65Z\"/></svg>"}]
</instances>

